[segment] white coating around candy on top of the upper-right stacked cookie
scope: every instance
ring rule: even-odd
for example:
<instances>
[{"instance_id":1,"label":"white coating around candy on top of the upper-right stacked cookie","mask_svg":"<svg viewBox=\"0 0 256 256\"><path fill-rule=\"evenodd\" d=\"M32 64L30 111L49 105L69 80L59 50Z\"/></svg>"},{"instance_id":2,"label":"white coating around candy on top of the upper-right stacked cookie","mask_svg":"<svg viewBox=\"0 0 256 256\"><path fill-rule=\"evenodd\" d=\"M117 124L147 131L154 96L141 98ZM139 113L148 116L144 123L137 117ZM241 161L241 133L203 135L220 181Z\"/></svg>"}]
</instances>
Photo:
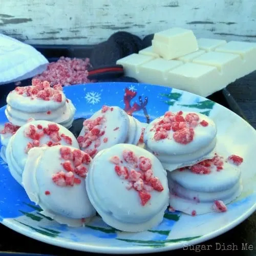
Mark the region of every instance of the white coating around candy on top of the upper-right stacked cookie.
<instances>
[{"instance_id":1,"label":"white coating around candy on top of the upper-right stacked cookie","mask_svg":"<svg viewBox=\"0 0 256 256\"><path fill-rule=\"evenodd\" d=\"M191 113L191 112L183 112L182 116L185 117L185 115L188 113ZM201 150L201 148L206 147L212 142L212 140L215 139L217 134L217 127L215 122L211 120L209 117L200 113L196 113L196 114L199 116L200 121L205 120L206 122L208 122L208 125L207 126L202 126L200 124L197 125L194 128L194 131L195 131L194 139L190 143L184 145L176 142L173 139L174 132L172 130L168 131L168 137L166 139L161 139L156 141L154 139L155 129L153 129L154 128L153 125L159 122L163 118L163 116L161 116L155 119L154 121L152 121L146 127L144 132L145 144L147 145L148 148L150 148L151 151L154 151L157 154L173 155L173 156L191 154Z\"/></svg>"}]
</instances>

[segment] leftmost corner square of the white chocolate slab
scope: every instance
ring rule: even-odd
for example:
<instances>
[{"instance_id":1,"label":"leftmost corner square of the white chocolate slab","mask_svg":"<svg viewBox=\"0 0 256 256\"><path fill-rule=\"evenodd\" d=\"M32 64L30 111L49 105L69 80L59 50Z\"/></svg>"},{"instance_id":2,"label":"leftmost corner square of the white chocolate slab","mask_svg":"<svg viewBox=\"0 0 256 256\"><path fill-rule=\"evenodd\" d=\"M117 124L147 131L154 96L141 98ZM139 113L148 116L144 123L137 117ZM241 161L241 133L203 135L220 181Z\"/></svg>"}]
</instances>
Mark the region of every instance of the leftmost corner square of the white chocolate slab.
<instances>
[{"instance_id":1,"label":"leftmost corner square of the white chocolate slab","mask_svg":"<svg viewBox=\"0 0 256 256\"><path fill-rule=\"evenodd\" d=\"M139 72L138 67L152 59L154 59L153 56L133 53L129 56L118 59L116 63L123 66L125 76L131 76L137 79Z\"/></svg>"}]
</instances>

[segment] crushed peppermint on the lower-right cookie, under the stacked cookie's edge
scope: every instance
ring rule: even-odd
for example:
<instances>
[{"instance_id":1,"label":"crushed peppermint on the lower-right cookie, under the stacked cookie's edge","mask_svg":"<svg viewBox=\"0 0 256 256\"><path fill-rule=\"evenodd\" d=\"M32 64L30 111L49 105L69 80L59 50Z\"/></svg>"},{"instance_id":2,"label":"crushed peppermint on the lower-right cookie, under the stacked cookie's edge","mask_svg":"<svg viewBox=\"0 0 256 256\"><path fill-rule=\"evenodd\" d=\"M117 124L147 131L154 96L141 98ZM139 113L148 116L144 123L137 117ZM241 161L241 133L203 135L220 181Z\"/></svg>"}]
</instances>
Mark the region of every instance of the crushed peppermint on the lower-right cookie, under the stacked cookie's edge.
<instances>
[{"instance_id":1,"label":"crushed peppermint on the lower-right cookie, under the stacked cookie's edge","mask_svg":"<svg viewBox=\"0 0 256 256\"><path fill-rule=\"evenodd\" d=\"M219 156L217 153L215 153L214 158L204 160L200 163L197 163L195 165L187 167L192 173L195 174L209 174L212 171L212 168L216 168L217 172L223 169L223 157ZM182 172L184 170L183 168L180 168L180 171Z\"/></svg>"}]
</instances>

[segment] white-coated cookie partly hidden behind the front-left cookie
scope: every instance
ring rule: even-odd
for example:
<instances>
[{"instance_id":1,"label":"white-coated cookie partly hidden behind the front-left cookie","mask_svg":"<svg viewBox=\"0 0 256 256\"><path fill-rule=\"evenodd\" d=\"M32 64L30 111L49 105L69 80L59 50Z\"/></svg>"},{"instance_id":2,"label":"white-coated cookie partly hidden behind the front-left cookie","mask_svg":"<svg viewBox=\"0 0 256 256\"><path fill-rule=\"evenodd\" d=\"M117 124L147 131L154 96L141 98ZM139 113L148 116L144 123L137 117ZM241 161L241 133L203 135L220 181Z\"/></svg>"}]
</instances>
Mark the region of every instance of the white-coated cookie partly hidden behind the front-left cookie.
<instances>
[{"instance_id":1,"label":"white-coated cookie partly hidden behind the front-left cookie","mask_svg":"<svg viewBox=\"0 0 256 256\"><path fill-rule=\"evenodd\" d=\"M32 147L69 145L79 148L74 135L65 127L49 121L36 120L21 126L6 148L6 160L13 178L20 184Z\"/></svg>"}]
</instances>

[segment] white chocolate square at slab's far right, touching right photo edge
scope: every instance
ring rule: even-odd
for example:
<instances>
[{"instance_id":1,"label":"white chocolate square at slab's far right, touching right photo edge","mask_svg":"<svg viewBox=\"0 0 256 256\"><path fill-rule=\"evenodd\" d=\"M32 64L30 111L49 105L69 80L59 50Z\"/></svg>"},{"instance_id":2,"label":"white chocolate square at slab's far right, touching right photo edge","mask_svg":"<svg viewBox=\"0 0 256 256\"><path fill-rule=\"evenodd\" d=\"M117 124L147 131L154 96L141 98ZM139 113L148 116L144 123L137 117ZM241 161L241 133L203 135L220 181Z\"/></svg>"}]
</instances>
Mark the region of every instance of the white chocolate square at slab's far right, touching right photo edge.
<instances>
[{"instance_id":1,"label":"white chocolate square at slab's far right, touching right photo edge","mask_svg":"<svg viewBox=\"0 0 256 256\"><path fill-rule=\"evenodd\" d=\"M245 76L256 70L256 43L230 41L226 45L215 49L216 52L239 54L243 63L240 67L239 77Z\"/></svg>"}]
</instances>

